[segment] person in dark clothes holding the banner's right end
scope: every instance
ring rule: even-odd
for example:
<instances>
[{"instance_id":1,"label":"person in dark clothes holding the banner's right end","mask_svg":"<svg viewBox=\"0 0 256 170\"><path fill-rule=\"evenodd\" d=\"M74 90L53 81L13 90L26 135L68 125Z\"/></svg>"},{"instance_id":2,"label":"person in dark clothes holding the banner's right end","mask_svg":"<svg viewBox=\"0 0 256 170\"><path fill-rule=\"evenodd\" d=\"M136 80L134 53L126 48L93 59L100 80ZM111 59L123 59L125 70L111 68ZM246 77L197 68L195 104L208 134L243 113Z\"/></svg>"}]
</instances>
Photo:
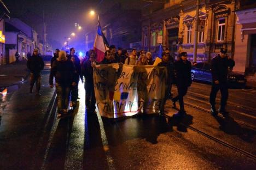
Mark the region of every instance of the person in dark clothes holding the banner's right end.
<instances>
[{"instance_id":1,"label":"person in dark clothes holding the banner's right end","mask_svg":"<svg viewBox=\"0 0 256 170\"><path fill-rule=\"evenodd\" d=\"M160 114L163 115L164 114L164 106L166 103L166 100L168 99L168 94L170 92L170 87L171 87L171 83L172 83L172 68L170 65L170 61L169 61L169 56L166 52L162 52L162 61L160 63L158 63L158 66L165 66L167 69L167 78L166 78L166 82L165 82L165 96L164 99L161 102L161 107L160 107Z\"/></svg>"}]
</instances>

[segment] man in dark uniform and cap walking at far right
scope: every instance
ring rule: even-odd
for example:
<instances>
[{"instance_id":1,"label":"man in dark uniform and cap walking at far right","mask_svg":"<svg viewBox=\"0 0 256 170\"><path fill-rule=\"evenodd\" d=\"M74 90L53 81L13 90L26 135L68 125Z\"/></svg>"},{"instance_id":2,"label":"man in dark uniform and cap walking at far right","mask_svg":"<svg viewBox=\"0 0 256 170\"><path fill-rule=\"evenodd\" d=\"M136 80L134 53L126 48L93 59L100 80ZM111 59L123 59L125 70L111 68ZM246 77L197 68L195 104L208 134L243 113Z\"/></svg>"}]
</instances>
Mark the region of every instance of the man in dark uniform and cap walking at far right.
<instances>
[{"instance_id":1,"label":"man in dark uniform and cap walking at far right","mask_svg":"<svg viewBox=\"0 0 256 170\"><path fill-rule=\"evenodd\" d=\"M235 62L229 59L226 55L227 50L225 48L220 49L218 56L214 57L211 62L212 72L212 90L210 94L211 113L213 116L217 116L218 112L215 108L215 99L220 90L222 98L220 100L219 113L222 113L224 117L228 116L228 112L225 110L226 101L228 100L228 70L232 70L235 66Z\"/></svg>"}]
</instances>

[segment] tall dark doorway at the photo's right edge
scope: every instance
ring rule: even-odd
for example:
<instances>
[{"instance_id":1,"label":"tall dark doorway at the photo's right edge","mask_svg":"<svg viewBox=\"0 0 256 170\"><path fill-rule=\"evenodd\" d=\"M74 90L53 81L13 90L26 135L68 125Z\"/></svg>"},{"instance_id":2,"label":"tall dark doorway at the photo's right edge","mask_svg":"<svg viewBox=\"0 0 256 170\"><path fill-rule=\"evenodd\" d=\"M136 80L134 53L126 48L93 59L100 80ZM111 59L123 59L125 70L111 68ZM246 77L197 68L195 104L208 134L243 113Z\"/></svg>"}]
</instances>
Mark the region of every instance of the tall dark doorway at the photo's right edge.
<instances>
[{"instance_id":1,"label":"tall dark doorway at the photo's right edge","mask_svg":"<svg viewBox=\"0 0 256 170\"><path fill-rule=\"evenodd\" d=\"M249 58L249 74L254 74L256 72L256 34L251 35L251 53Z\"/></svg>"}]
</instances>

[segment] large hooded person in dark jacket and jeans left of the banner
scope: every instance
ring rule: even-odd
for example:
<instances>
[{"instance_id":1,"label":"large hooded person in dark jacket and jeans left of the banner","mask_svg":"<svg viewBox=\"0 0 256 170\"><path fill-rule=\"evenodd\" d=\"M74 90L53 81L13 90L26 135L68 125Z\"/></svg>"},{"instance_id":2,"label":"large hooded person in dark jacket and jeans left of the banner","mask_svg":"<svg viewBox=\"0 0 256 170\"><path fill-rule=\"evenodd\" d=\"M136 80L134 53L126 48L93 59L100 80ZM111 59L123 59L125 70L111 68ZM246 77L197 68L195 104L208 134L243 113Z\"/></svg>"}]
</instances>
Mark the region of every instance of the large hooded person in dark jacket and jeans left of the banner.
<instances>
[{"instance_id":1,"label":"large hooded person in dark jacket and jeans left of the banner","mask_svg":"<svg viewBox=\"0 0 256 170\"><path fill-rule=\"evenodd\" d=\"M57 93L57 114L58 118L61 118L68 112L71 86L77 85L74 64L67 59L65 51L60 51L59 57L53 62L49 77L50 88L54 87L53 77Z\"/></svg>"}]
</instances>

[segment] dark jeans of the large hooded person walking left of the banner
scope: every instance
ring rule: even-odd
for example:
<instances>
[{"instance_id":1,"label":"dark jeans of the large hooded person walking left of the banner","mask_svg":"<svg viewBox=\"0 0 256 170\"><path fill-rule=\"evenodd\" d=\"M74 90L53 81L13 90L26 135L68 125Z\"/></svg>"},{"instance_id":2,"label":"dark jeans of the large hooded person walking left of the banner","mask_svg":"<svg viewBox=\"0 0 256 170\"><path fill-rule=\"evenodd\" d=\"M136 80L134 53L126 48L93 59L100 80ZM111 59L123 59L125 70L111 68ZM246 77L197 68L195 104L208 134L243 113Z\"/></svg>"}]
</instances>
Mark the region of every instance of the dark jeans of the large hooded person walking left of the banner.
<instances>
[{"instance_id":1,"label":"dark jeans of the large hooded person walking left of the banner","mask_svg":"<svg viewBox=\"0 0 256 170\"><path fill-rule=\"evenodd\" d=\"M71 84L56 83L58 111L66 110L69 106L70 86Z\"/></svg>"}]
</instances>

